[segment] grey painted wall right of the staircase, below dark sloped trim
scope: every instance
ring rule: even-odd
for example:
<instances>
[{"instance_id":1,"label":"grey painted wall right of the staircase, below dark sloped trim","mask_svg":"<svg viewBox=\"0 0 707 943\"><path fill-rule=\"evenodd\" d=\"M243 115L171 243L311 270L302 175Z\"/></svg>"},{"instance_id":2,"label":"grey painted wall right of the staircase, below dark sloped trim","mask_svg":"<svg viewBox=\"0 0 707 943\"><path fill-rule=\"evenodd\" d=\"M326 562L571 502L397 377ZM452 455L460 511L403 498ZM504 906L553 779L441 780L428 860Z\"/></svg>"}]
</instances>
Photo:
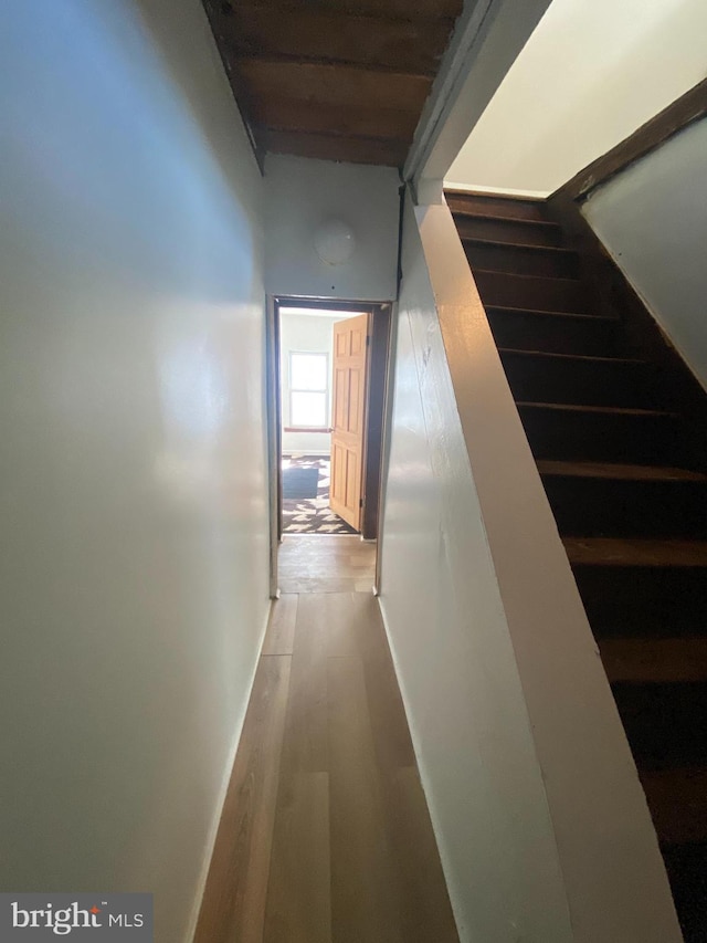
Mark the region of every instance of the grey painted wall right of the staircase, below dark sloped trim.
<instances>
[{"instance_id":1,"label":"grey painted wall right of the staircase, below dark sloped trim","mask_svg":"<svg viewBox=\"0 0 707 943\"><path fill-rule=\"evenodd\" d=\"M707 389L706 154L703 119L609 180L582 211Z\"/></svg>"}]
</instances>

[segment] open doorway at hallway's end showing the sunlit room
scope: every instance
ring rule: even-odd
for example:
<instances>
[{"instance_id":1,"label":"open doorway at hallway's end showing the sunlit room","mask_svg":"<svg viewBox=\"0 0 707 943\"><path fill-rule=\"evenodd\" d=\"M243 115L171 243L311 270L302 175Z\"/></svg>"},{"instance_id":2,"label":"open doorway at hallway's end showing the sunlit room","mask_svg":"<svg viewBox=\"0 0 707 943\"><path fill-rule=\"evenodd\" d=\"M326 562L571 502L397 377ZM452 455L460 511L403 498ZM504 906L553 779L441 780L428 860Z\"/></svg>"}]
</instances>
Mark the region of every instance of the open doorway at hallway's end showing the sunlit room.
<instances>
[{"instance_id":1,"label":"open doorway at hallway's end showing the sunlit room","mask_svg":"<svg viewBox=\"0 0 707 943\"><path fill-rule=\"evenodd\" d=\"M390 313L389 304L274 300L273 537L276 530L287 547L284 558L272 555L273 587L277 557L292 559L293 541L316 541L296 555L319 562L324 537L335 556L345 544L331 538L342 537L373 544L374 555Z\"/></svg>"}]
</instances>

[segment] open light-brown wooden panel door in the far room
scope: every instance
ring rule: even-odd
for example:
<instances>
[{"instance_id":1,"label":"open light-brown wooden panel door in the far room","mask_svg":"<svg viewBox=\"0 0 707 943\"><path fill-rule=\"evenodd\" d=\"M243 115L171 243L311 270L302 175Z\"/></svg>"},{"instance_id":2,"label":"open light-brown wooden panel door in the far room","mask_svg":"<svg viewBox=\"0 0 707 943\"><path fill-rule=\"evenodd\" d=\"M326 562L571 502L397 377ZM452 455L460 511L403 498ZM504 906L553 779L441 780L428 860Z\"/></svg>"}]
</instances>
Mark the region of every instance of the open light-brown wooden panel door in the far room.
<instances>
[{"instance_id":1,"label":"open light-brown wooden panel door in the far room","mask_svg":"<svg viewBox=\"0 0 707 943\"><path fill-rule=\"evenodd\" d=\"M334 401L329 506L361 530L368 314L334 325Z\"/></svg>"}]
</instances>

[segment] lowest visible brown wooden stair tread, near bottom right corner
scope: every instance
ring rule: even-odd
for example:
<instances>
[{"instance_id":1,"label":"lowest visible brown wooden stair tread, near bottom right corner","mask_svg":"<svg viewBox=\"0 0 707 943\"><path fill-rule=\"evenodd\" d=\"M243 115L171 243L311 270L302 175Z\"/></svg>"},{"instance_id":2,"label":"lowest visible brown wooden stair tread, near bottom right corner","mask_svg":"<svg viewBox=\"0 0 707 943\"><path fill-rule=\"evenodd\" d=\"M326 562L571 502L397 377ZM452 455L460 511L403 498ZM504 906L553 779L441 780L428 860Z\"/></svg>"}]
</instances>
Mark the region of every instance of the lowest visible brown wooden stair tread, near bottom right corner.
<instances>
[{"instance_id":1,"label":"lowest visible brown wooden stair tread, near bottom right corner","mask_svg":"<svg viewBox=\"0 0 707 943\"><path fill-rule=\"evenodd\" d=\"M707 841L707 769L643 772L641 783L663 845Z\"/></svg>"}]
</instances>

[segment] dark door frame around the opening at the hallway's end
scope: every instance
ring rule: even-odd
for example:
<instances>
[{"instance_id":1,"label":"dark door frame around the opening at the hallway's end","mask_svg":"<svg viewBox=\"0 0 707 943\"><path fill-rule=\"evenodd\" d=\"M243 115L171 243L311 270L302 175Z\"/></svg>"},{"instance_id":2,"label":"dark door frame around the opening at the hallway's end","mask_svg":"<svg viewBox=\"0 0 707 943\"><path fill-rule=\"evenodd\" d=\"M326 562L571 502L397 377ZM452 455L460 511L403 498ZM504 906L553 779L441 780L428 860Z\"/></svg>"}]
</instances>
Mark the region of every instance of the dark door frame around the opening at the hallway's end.
<instances>
[{"instance_id":1,"label":"dark door frame around the opening at the hallway's end","mask_svg":"<svg viewBox=\"0 0 707 943\"><path fill-rule=\"evenodd\" d=\"M282 543L282 371L281 307L309 307L346 314L371 315L371 343L368 347L366 383L366 436L363 443L361 539L376 539L381 531L383 502L383 449L390 392L390 353L393 302L335 301L267 295L266 298L266 398L267 398L267 469L270 475L270 595L279 596L277 554ZM373 373L374 371L374 373ZM372 391L372 401L371 401ZM371 419L373 421L371 422ZM378 558L377 553L377 588Z\"/></svg>"}]
</instances>

